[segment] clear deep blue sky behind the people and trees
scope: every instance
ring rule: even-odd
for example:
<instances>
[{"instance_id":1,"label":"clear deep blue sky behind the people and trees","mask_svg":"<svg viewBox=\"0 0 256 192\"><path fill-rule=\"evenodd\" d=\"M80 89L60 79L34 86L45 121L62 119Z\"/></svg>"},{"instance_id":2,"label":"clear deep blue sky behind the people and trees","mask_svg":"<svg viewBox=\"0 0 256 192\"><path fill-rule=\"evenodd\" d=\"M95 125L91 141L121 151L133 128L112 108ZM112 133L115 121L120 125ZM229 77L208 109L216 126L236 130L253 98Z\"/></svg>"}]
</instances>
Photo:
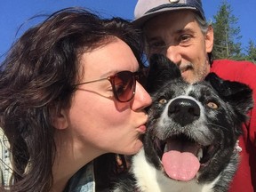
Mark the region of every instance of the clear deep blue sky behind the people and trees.
<instances>
[{"instance_id":1,"label":"clear deep blue sky behind the people and trees","mask_svg":"<svg viewBox=\"0 0 256 192\"><path fill-rule=\"evenodd\" d=\"M207 20L213 20L222 0L203 0ZM227 0L241 28L242 47L248 47L250 39L256 44L255 0ZM0 60L1 57L24 30L34 23L28 21L36 14L48 14L69 6L83 6L100 12L104 17L120 16L133 19L137 0L0 0ZM17 34L20 25L23 25Z\"/></svg>"}]
</instances>

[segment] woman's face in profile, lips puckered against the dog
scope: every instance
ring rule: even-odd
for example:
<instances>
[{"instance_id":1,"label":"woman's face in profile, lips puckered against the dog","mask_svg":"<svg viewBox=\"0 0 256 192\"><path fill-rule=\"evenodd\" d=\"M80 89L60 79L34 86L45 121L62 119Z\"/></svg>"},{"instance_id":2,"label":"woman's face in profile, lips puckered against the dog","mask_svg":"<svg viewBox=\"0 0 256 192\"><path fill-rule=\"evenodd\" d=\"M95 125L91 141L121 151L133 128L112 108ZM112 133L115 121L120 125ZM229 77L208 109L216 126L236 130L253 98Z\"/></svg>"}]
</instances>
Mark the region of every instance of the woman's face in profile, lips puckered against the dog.
<instances>
[{"instance_id":1,"label":"woman's face in profile, lips puckered against the dog","mask_svg":"<svg viewBox=\"0 0 256 192\"><path fill-rule=\"evenodd\" d=\"M80 63L84 77L78 83L139 69L130 47L118 38L92 52L85 52ZM139 137L146 130L148 118L144 108L150 104L148 92L138 82L134 98L128 102L115 99L108 80L81 84L71 107L64 111L65 130L75 150L84 156L92 154L95 157L108 152L131 155L142 147Z\"/></svg>"}]
</instances>

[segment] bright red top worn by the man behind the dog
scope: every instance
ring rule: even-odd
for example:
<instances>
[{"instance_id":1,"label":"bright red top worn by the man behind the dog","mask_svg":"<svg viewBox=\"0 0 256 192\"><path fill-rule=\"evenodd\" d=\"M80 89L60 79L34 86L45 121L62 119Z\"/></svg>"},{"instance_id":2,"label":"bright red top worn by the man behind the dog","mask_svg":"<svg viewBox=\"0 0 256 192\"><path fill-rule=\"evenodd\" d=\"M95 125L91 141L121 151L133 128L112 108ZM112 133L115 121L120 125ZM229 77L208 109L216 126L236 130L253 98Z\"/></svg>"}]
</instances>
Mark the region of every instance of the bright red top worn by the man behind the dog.
<instances>
[{"instance_id":1,"label":"bright red top worn by the man behind the dog","mask_svg":"<svg viewBox=\"0 0 256 192\"><path fill-rule=\"evenodd\" d=\"M239 139L241 162L229 192L256 191L256 64L215 60L211 72L223 79L248 84L253 90L254 108L249 113L250 122L243 125L244 134Z\"/></svg>"}]
</instances>

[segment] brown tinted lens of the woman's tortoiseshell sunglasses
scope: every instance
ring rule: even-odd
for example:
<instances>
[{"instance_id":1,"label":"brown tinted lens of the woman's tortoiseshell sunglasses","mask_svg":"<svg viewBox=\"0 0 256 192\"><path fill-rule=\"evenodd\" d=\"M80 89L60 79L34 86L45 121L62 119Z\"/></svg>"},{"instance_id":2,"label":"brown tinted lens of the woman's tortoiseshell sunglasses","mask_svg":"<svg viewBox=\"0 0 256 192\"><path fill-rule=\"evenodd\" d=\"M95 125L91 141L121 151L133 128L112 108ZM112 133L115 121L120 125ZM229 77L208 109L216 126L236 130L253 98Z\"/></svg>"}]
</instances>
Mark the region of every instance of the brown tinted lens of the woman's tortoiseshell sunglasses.
<instances>
[{"instance_id":1,"label":"brown tinted lens of the woman's tortoiseshell sunglasses","mask_svg":"<svg viewBox=\"0 0 256 192\"><path fill-rule=\"evenodd\" d=\"M114 78L114 94L116 99L121 102L132 100L135 92L136 80L131 71L122 71Z\"/></svg>"}]
</instances>

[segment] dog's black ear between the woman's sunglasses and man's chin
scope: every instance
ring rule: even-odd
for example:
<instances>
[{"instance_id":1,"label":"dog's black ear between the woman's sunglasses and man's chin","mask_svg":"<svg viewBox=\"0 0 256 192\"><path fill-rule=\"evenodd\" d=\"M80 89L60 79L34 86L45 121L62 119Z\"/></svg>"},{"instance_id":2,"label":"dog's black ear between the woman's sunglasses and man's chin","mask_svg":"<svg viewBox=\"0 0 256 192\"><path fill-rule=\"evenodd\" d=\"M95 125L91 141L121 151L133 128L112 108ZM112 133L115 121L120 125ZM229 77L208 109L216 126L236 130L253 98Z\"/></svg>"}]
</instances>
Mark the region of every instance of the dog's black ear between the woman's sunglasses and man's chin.
<instances>
[{"instance_id":1,"label":"dog's black ear between the woman's sunglasses and man's chin","mask_svg":"<svg viewBox=\"0 0 256 192\"><path fill-rule=\"evenodd\" d=\"M166 81L179 78L180 69L162 54L153 54L149 59L147 91L155 92Z\"/></svg>"}]
</instances>

